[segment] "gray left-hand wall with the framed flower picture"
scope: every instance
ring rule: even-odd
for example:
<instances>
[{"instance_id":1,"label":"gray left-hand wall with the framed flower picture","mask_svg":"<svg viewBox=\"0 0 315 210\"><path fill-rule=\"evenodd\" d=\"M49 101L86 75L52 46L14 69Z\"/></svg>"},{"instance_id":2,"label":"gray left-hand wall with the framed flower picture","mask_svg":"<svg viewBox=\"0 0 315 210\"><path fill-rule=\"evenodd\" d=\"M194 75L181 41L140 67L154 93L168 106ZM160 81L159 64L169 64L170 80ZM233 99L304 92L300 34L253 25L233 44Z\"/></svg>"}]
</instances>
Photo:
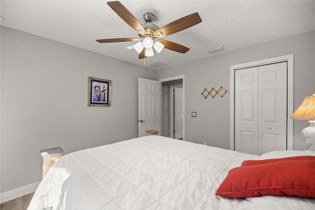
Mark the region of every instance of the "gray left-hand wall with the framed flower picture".
<instances>
[{"instance_id":1,"label":"gray left-hand wall with the framed flower picture","mask_svg":"<svg viewBox=\"0 0 315 210\"><path fill-rule=\"evenodd\" d=\"M88 106L89 76L112 81L110 107ZM137 137L138 77L157 71L1 26L1 193L41 180L42 149Z\"/></svg>"}]
</instances>

